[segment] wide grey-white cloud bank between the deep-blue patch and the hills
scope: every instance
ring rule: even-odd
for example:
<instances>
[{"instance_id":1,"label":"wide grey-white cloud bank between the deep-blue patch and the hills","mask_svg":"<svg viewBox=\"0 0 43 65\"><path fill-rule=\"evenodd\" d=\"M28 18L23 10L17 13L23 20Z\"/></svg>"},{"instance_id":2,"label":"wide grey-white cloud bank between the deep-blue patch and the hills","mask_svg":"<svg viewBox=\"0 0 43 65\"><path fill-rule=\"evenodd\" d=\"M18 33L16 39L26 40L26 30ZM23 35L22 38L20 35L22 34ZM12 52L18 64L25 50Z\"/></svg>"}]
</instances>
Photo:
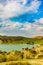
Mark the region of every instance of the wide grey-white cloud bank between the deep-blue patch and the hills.
<instances>
[{"instance_id":1,"label":"wide grey-white cloud bank between the deep-blue patch and the hills","mask_svg":"<svg viewBox=\"0 0 43 65\"><path fill-rule=\"evenodd\" d=\"M41 18L40 18L41 19ZM33 37L36 35L43 35L43 25L39 24L40 19L35 20L34 23L20 23L12 22L10 20L3 20L0 22L0 34ZM40 21L41 22L41 21Z\"/></svg>"}]
</instances>

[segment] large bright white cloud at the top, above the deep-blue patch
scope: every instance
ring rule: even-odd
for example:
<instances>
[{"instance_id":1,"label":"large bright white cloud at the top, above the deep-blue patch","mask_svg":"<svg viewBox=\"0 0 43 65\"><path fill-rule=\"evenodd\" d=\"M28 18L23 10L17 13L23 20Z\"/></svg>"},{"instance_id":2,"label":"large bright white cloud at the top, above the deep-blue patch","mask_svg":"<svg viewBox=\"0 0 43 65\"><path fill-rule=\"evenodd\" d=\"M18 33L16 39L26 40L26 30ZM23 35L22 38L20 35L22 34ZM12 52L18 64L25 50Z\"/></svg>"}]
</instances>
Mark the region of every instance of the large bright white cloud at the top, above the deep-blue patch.
<instances>
[{"instance_id":1,"label":"large bright white cloud at the top, above the deep-blue patch","mask_svg":"<svg viewBox=\"0 0 43 65\"><path fill-rule=\"evenodd\" d=\"M41 5L41 1L38 0L31 1L30 6L26 6L26 3L27 0L8 0L6 5L0 4L0 18L16 17L26 12L36 13Z\"/></svg>"}]
</instances>

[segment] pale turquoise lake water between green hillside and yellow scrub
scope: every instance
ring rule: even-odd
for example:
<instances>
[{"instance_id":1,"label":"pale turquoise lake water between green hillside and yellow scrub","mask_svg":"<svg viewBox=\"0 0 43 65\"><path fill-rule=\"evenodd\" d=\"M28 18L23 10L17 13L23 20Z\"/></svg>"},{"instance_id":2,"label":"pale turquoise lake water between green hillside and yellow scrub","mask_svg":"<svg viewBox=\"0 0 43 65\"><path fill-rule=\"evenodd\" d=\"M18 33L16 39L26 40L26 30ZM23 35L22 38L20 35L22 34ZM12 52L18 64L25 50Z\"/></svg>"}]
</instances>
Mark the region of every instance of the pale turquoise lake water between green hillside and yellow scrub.
<instances>
[{"instance_id":1,"label":"pale turquoise lake water between green hillside and yellow scrub","mask_svg":"<svg viewBox=\"0 0 43 65\"><path fill-rule=\"evenodd\" d=\"M29 45L29 44L0 44L1 51L15 51L15 50L22 50L22 48L32 48L36 47L37 45Z\"/></svg>"}]
</instances>

